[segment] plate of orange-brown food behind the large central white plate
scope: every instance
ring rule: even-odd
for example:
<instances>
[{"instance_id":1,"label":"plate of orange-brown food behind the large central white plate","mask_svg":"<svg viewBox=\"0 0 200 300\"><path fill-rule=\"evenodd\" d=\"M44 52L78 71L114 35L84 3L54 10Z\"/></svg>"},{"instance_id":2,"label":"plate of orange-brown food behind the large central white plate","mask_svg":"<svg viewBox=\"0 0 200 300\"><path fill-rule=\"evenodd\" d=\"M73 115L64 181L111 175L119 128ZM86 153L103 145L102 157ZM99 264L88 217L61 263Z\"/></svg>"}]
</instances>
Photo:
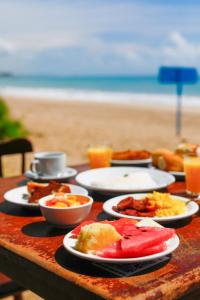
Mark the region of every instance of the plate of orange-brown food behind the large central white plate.
<instances>
[{"instance_id":1,"label":"plate of orange-brown food behind the large central white plate","mask_svg":"<svg viewBox=\"0 0 200 300\"><path fill-rule=\"evenodd\" d=\"M149 166L152 162L151 153L147 150L114 151L112 165Z\"/></svg>"}]
</instances>

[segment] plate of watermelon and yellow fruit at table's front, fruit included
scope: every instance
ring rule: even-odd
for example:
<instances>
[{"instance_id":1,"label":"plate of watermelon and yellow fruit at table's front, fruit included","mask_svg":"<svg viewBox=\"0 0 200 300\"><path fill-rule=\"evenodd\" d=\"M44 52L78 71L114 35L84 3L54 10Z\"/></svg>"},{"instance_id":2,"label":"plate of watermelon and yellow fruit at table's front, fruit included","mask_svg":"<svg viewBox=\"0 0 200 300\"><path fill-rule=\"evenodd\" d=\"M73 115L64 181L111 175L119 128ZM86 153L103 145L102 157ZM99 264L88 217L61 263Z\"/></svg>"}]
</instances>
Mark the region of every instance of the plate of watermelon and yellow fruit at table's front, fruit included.
<instances>
[{"instance_id":1,"label":"plate of watermelon and yellow fruit at table's front, fruit included","mask_svg":"<svg viewBox=\"0 0 200 300\"><path fill-rule=\"evenodd\" d=\"M179 245L174 229L152 220L122 218L85 221L63 240L65 249L86 260L131 263L154 260L172 253Z\"/></svg>"}]
</instances>

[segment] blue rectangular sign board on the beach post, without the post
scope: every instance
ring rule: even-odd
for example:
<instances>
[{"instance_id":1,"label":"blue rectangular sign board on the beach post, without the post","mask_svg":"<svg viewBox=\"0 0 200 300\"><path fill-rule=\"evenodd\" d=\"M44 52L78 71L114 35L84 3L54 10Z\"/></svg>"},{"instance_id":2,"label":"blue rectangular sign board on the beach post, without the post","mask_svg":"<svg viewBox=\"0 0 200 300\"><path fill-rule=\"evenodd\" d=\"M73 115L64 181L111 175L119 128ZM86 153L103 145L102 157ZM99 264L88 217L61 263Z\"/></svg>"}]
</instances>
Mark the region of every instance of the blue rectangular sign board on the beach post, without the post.
<instances>
[{"instance_id":1,"label":"blue rectangular sign board on the beach post, without the post","mask_svg":"<svg viewBox=\"0 0 200 300\"><path fill-rule=\"evenodd\" d=\"M159 70L160 83L194 84L197 82L197 80L198 74L195 68L161 67Z\"/></svg>"}]
</instances>

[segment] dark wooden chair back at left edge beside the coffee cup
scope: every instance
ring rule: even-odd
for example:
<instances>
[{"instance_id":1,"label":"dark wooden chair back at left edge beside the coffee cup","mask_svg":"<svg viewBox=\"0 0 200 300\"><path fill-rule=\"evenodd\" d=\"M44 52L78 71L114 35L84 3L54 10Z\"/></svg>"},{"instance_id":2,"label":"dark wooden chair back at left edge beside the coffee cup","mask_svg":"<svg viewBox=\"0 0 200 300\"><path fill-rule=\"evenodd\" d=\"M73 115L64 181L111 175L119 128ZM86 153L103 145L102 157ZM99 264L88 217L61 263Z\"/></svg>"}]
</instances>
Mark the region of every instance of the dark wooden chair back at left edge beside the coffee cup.
<instances>
[{"instance_id":1,"label":"dark wooden chair back at left edge beside the coffee cup","mask_svg":"<svg viewBox=\"0 0 200 300\"><path fill-rule=\"evenodd\" d=\"M27 139L14 139L0 143L0 177L3 177L2 156L9 154L21 154L21 173L25 171L25 153L32 152L33 146Z\"/></svg>"}]
</instances>

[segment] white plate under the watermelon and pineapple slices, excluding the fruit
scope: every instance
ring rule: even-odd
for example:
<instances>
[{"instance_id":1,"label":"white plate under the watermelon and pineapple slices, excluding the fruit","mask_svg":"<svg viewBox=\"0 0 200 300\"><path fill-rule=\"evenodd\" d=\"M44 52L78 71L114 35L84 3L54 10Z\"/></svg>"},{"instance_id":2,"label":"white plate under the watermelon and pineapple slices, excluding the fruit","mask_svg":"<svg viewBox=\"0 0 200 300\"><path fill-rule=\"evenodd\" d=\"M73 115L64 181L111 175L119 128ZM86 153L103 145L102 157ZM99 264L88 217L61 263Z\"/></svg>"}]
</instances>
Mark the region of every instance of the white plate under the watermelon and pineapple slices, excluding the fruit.
<instances>
[{"instance_id":1,"label":"white plate under the watermelon and pineapple slices, excluding the fruit","mask_svg":"<svg viewBox=\"0 0 200 300\"><path fill-rule=\"evenodd\" d=\"M143 262L143 261L153 260L153 259L163 257L163 256L173 252L179 245L179 238L175 234L171 239L166 241L167 249L160 253L143 256L143 257L136 257L136 258L104 258L104 257L100 257L97 255L86 254L86 253L77 251L74 248L76 241L77 240L73 238L73 235L71 234L71 232L69 232L64 237L63 245L67 251L69 251L71 254L73 254L79 258L96 261L96 262L106 262L106 263L132 263L132 262Z\"/></svg>"}]
</instances>

